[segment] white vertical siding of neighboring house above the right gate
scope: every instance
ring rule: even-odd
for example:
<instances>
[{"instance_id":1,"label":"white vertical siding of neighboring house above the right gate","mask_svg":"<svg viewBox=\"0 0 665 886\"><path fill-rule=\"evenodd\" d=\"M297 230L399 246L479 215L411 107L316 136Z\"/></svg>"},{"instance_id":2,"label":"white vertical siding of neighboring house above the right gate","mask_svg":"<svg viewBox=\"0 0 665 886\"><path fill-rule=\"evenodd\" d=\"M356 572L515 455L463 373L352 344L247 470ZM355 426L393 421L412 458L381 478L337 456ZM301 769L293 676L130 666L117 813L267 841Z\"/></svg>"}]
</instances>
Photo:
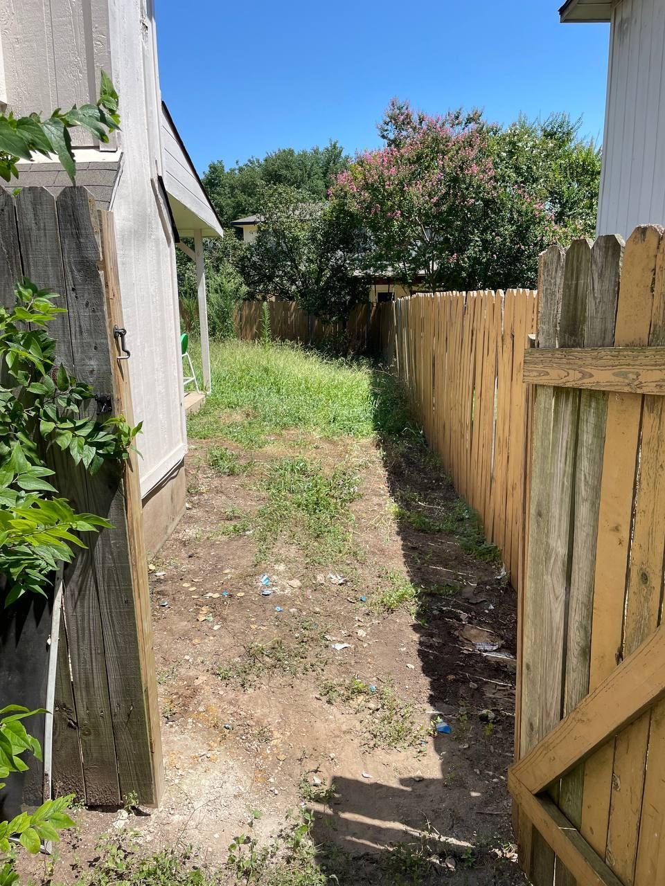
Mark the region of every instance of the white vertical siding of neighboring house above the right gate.
<instances>
[{"instance_id":1,"label":"white vertical siding of neighboring house above the right gate","mask_svg":"<svg viewBox=\"0 0 665 886\"><path fill-rule=\"evenodd\" d=\"M599 234L665 224L665 0L612 10Z\"/></svg>"}]
</instances>

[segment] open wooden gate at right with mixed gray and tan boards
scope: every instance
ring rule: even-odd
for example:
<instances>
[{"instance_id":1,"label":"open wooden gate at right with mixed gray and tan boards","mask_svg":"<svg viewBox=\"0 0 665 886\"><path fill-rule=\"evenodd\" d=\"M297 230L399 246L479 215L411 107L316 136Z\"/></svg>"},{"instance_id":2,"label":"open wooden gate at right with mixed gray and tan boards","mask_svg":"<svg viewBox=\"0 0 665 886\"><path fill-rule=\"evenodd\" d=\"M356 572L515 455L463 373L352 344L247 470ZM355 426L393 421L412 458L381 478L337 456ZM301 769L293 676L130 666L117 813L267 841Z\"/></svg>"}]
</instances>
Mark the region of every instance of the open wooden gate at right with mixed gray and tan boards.
<instances>
[{"instance_id":1,"label":"open wooden gate at right with mixed gray and tan boards","mask_svg":"<svg viewBox=\"0 0 665 886\"><path fill-rule=\"evenodd\" d=\"M535 886L665 883L665 238L544 253L518 762Z\"/></svg>"}]
</instances>

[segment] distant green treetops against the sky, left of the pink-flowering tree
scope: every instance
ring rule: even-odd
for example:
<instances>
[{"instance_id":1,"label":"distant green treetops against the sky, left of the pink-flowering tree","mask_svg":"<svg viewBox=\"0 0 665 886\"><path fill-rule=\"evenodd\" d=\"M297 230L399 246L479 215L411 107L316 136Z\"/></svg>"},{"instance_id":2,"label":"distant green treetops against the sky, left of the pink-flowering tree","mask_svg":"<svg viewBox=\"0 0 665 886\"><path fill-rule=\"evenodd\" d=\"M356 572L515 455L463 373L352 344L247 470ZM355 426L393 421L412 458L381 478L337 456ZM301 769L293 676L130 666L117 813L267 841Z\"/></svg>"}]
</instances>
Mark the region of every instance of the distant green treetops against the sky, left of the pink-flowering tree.
<instances>
[{"instance_id":1,"label":"distant green treetops against the sky, left of the pink-flowering tree","mask_svg":"<svg viewBox=\"0 0 665 886\"><path fill-rule=\"evenodd\" d=\"M325 200L337 175L348 166L340 144L331 141L325 148L294 151L283 148L253 157L227 169L222 160L211 163L203 184L223 225L256 212L262 185L285 185L305 191L309 199Z\"/></svg>"}]
</instances>

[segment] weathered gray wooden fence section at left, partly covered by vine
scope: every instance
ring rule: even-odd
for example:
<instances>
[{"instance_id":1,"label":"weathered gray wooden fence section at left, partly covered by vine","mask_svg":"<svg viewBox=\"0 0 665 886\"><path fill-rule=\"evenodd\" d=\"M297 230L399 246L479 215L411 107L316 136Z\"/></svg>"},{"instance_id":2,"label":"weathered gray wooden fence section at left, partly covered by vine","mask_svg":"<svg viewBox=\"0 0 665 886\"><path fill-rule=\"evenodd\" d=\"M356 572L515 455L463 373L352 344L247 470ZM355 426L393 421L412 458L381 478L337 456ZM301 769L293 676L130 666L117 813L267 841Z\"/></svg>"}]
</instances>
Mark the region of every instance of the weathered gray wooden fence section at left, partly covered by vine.
<instances>
[{"instance_id":1,"label":"weathered gray wooden fence section at left, partly covered by vine","mask_svg":"<svg viewBox=\"0 0 665 886\"><path fill-rule=\"evenodd\" d=\"M24 275L59 292L67 308L50 326L59 360L92 385L98 413L131 423L127 361L117 360L113 337L123 325L113 215L98 212L84 188L65 188L57 199L41 188L16 198L0 189L0 304L13 304L12 285ZM36 637L27 630L31 613L4 613L0 706L27 703L33 692L35 675L20 672L21 662L45 664L57 654L51 781L45 773L43 794L73 791L89 805L118 805L136 791L140 802L155 804L163 769L136 456L124 467L106 464L95 477L52 457L59 492L113 529L88 535L90 547L65 571L55 649L46 647L49 630Z\"/></svg>"}]
</instances>

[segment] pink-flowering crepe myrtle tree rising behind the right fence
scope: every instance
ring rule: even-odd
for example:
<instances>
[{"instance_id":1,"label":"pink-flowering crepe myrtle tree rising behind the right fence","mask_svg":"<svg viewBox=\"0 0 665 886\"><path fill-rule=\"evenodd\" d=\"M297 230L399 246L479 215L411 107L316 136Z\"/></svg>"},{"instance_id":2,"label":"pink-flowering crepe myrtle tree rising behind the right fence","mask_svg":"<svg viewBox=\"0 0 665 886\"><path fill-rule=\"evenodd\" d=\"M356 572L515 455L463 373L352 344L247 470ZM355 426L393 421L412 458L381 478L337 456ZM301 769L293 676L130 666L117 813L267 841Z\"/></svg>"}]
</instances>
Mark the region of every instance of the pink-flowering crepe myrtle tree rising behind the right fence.
<instances>
[{"instance_id":1,"label":"pink-flowering crepe myrtle tree rising behind the right fence","mask_svg":"<svg viewBox=\"0 0 665 886\"><path fill-rule=\"evenodd\" d=\"M379 135L385 146L358 154L330 194L362 219L368 269L431 291L535 284L559 228L541 195L506 183L497 128L479 111L429 116L394 99Z\"/></svg>"}]
</instances>

